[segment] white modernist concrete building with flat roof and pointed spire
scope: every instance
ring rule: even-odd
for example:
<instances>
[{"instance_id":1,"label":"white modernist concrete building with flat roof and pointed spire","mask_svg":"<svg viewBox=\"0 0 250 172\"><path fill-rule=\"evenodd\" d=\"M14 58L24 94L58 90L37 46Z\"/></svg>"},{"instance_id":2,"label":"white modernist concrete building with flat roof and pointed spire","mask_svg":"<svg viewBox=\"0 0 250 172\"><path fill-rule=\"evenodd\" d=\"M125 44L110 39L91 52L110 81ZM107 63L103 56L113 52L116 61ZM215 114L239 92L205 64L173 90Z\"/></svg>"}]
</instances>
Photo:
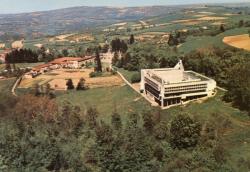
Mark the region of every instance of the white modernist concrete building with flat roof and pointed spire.
<instances>
[{"instance_id":1,"label":"white modernist concrete building with flat roof and pointed spire","mask_svg":"<svg viewBox=\"0 0 250 172\"><path fill-rule=\"evenodd\" d=\"M193 71L184 71L181 60L174 68L141 70L141 93L162 108L211 97L215 94L215 88L213 79Z\"/></svg>"}]
</instances>

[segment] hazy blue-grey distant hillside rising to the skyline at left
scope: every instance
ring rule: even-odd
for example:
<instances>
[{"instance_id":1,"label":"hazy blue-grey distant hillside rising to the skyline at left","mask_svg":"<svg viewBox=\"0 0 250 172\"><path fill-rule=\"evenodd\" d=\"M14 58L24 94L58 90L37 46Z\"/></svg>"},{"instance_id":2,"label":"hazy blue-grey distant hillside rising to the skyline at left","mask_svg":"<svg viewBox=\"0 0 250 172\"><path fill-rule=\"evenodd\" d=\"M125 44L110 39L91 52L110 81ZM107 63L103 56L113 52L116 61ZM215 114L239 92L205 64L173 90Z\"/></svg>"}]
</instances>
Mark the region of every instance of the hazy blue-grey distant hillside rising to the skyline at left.
<instances>
[{"instance_id":1,"label":"hazy blue-grey distant hillside rising to the skyline at left","mask_svg":"<svg viewBox=\"0 0 250 172\"><path fill-rule=\"evenodd\" d=\"M20 14L0 14L0 40L38 38L178 12L188 6L71 7Z\"/></svg>"}]
</instances>

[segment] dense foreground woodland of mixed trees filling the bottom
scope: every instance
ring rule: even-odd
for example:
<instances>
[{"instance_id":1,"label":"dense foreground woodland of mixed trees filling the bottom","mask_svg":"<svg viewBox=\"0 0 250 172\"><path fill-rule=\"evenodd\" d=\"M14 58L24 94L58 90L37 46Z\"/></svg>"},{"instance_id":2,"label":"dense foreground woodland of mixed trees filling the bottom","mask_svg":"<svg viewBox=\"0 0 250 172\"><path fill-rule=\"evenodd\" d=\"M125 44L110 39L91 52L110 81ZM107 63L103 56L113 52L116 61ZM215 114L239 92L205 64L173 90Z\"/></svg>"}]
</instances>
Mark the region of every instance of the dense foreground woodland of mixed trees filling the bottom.
<instances>
[{"instance_id":1,"label":"dense foreground woodland of mixed trees filling the bottom","mask_svg":"<svg viewBox=\"0 0 250 172\"><path fill-rule=\"evenodd\" d=\"M47 96L1 96L1 171L236 170L221 141L231 122L220 114L206 121L185 113L165 120L170 114L145 111L122 120L114 109L102 121L94 107L65 102L59 108Z\"/></svg>"}]
</instances>

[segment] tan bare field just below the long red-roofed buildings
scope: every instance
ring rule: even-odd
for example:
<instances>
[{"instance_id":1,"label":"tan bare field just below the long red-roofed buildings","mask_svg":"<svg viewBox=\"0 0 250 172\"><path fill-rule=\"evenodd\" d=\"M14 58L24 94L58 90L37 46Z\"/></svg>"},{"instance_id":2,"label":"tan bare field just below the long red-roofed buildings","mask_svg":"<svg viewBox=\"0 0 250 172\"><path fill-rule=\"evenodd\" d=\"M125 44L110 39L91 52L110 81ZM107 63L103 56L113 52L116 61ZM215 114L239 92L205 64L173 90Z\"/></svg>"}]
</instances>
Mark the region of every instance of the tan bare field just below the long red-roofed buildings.
<instances>
[{"instance_id":1,"label":"tan bare field just below the long red-roofed buildings","mask_svg":"<svg viewBox=\"0 0 250 172\"><path fill-rule=\"evenodd\" d=\"M89 74L93 72L93 69L83 70L70 70L59 69L37 76L36 78L23 79L19 85L19 88L31 88L35 84L44 85L49 83L53 89L66 90L67 79L72 79L76 86L80 78L86 80L86 85L89 88L100 88L110 86L123 85L122 79L118 75L111 75L110 73L104 73L101 77L90 78Z\"/></svg>"}]
</instances>

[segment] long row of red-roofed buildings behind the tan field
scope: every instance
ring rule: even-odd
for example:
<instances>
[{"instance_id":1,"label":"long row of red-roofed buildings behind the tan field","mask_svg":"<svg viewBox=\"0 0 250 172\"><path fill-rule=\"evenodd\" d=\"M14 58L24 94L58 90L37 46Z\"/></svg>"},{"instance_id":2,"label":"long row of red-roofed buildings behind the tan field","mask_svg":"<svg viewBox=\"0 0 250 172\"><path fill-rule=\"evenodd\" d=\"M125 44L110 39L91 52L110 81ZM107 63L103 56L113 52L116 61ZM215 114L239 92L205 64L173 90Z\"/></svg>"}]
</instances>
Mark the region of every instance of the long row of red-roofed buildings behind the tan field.
<instances>
[{"instance_id":1,"label":"long row of red-roofed buildings behind the tan field","mask_svg":"<svg viewBox=\"0 0 250 172\"><path fill-rule=\"evenodd\" d=\"M88 62L94 62L94 57L85 56L83 58L82 57L57 58L49 63L35 66L34 68L32 68L31 72L25 75L25 78L32 78L39 74L59 68L79 69L82 66L86 65Z\"/></svg>"}]
</instances>

